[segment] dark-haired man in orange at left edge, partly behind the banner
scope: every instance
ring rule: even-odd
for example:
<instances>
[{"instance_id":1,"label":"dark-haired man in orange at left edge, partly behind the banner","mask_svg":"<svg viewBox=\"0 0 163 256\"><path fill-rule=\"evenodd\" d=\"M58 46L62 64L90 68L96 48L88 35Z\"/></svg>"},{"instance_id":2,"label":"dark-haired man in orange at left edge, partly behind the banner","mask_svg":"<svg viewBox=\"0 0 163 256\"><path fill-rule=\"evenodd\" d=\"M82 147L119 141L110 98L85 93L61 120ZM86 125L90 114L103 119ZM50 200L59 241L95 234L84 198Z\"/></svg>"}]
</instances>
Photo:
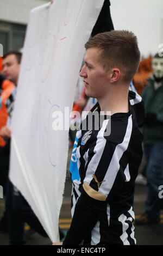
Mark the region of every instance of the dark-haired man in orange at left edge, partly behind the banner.
<instances>
[{"instance_id":1,"label":"dark-haired man in orange at left edge, partly behind the banner","mask_svg":"<svg viewBox=\"0 0 163 256\"><path fill-rule=\"evenodd\" d=\"M12 114L12 105L16 95L16 85L20 71L20 52L9 52L3 56L3 70L0 77L0 185L3 186L3 194L7 193L7 180L10 156L11 131L8 126ZM6 211L0 221L0 229L7 231Z\"/></svg>"}]
</instances>

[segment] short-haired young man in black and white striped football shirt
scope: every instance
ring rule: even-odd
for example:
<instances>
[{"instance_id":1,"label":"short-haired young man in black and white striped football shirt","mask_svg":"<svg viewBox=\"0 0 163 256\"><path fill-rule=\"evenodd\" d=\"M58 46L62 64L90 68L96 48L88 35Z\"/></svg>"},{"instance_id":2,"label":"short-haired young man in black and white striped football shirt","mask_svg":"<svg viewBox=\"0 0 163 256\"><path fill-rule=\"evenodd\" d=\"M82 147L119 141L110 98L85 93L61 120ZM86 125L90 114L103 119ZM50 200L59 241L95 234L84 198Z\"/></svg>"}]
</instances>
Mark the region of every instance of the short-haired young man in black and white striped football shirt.
<instances>
[{"instance_id":1,"label":"short-haired young man in black and white striped football shirt","mask_svg":"<svg viewBox=\"0 0 163 256\"><path fill-rule=\"evenodd\" d=\"M105 32L85 48L80 76L86 95L98 101L91 112L103 121L98 130L93 123L77 132L70 164L73 218L63 245L135 245L134 183L144 119L141 97L129 91L140 62L137 39L128 31Z\"/></svg>"}]
</instances>

